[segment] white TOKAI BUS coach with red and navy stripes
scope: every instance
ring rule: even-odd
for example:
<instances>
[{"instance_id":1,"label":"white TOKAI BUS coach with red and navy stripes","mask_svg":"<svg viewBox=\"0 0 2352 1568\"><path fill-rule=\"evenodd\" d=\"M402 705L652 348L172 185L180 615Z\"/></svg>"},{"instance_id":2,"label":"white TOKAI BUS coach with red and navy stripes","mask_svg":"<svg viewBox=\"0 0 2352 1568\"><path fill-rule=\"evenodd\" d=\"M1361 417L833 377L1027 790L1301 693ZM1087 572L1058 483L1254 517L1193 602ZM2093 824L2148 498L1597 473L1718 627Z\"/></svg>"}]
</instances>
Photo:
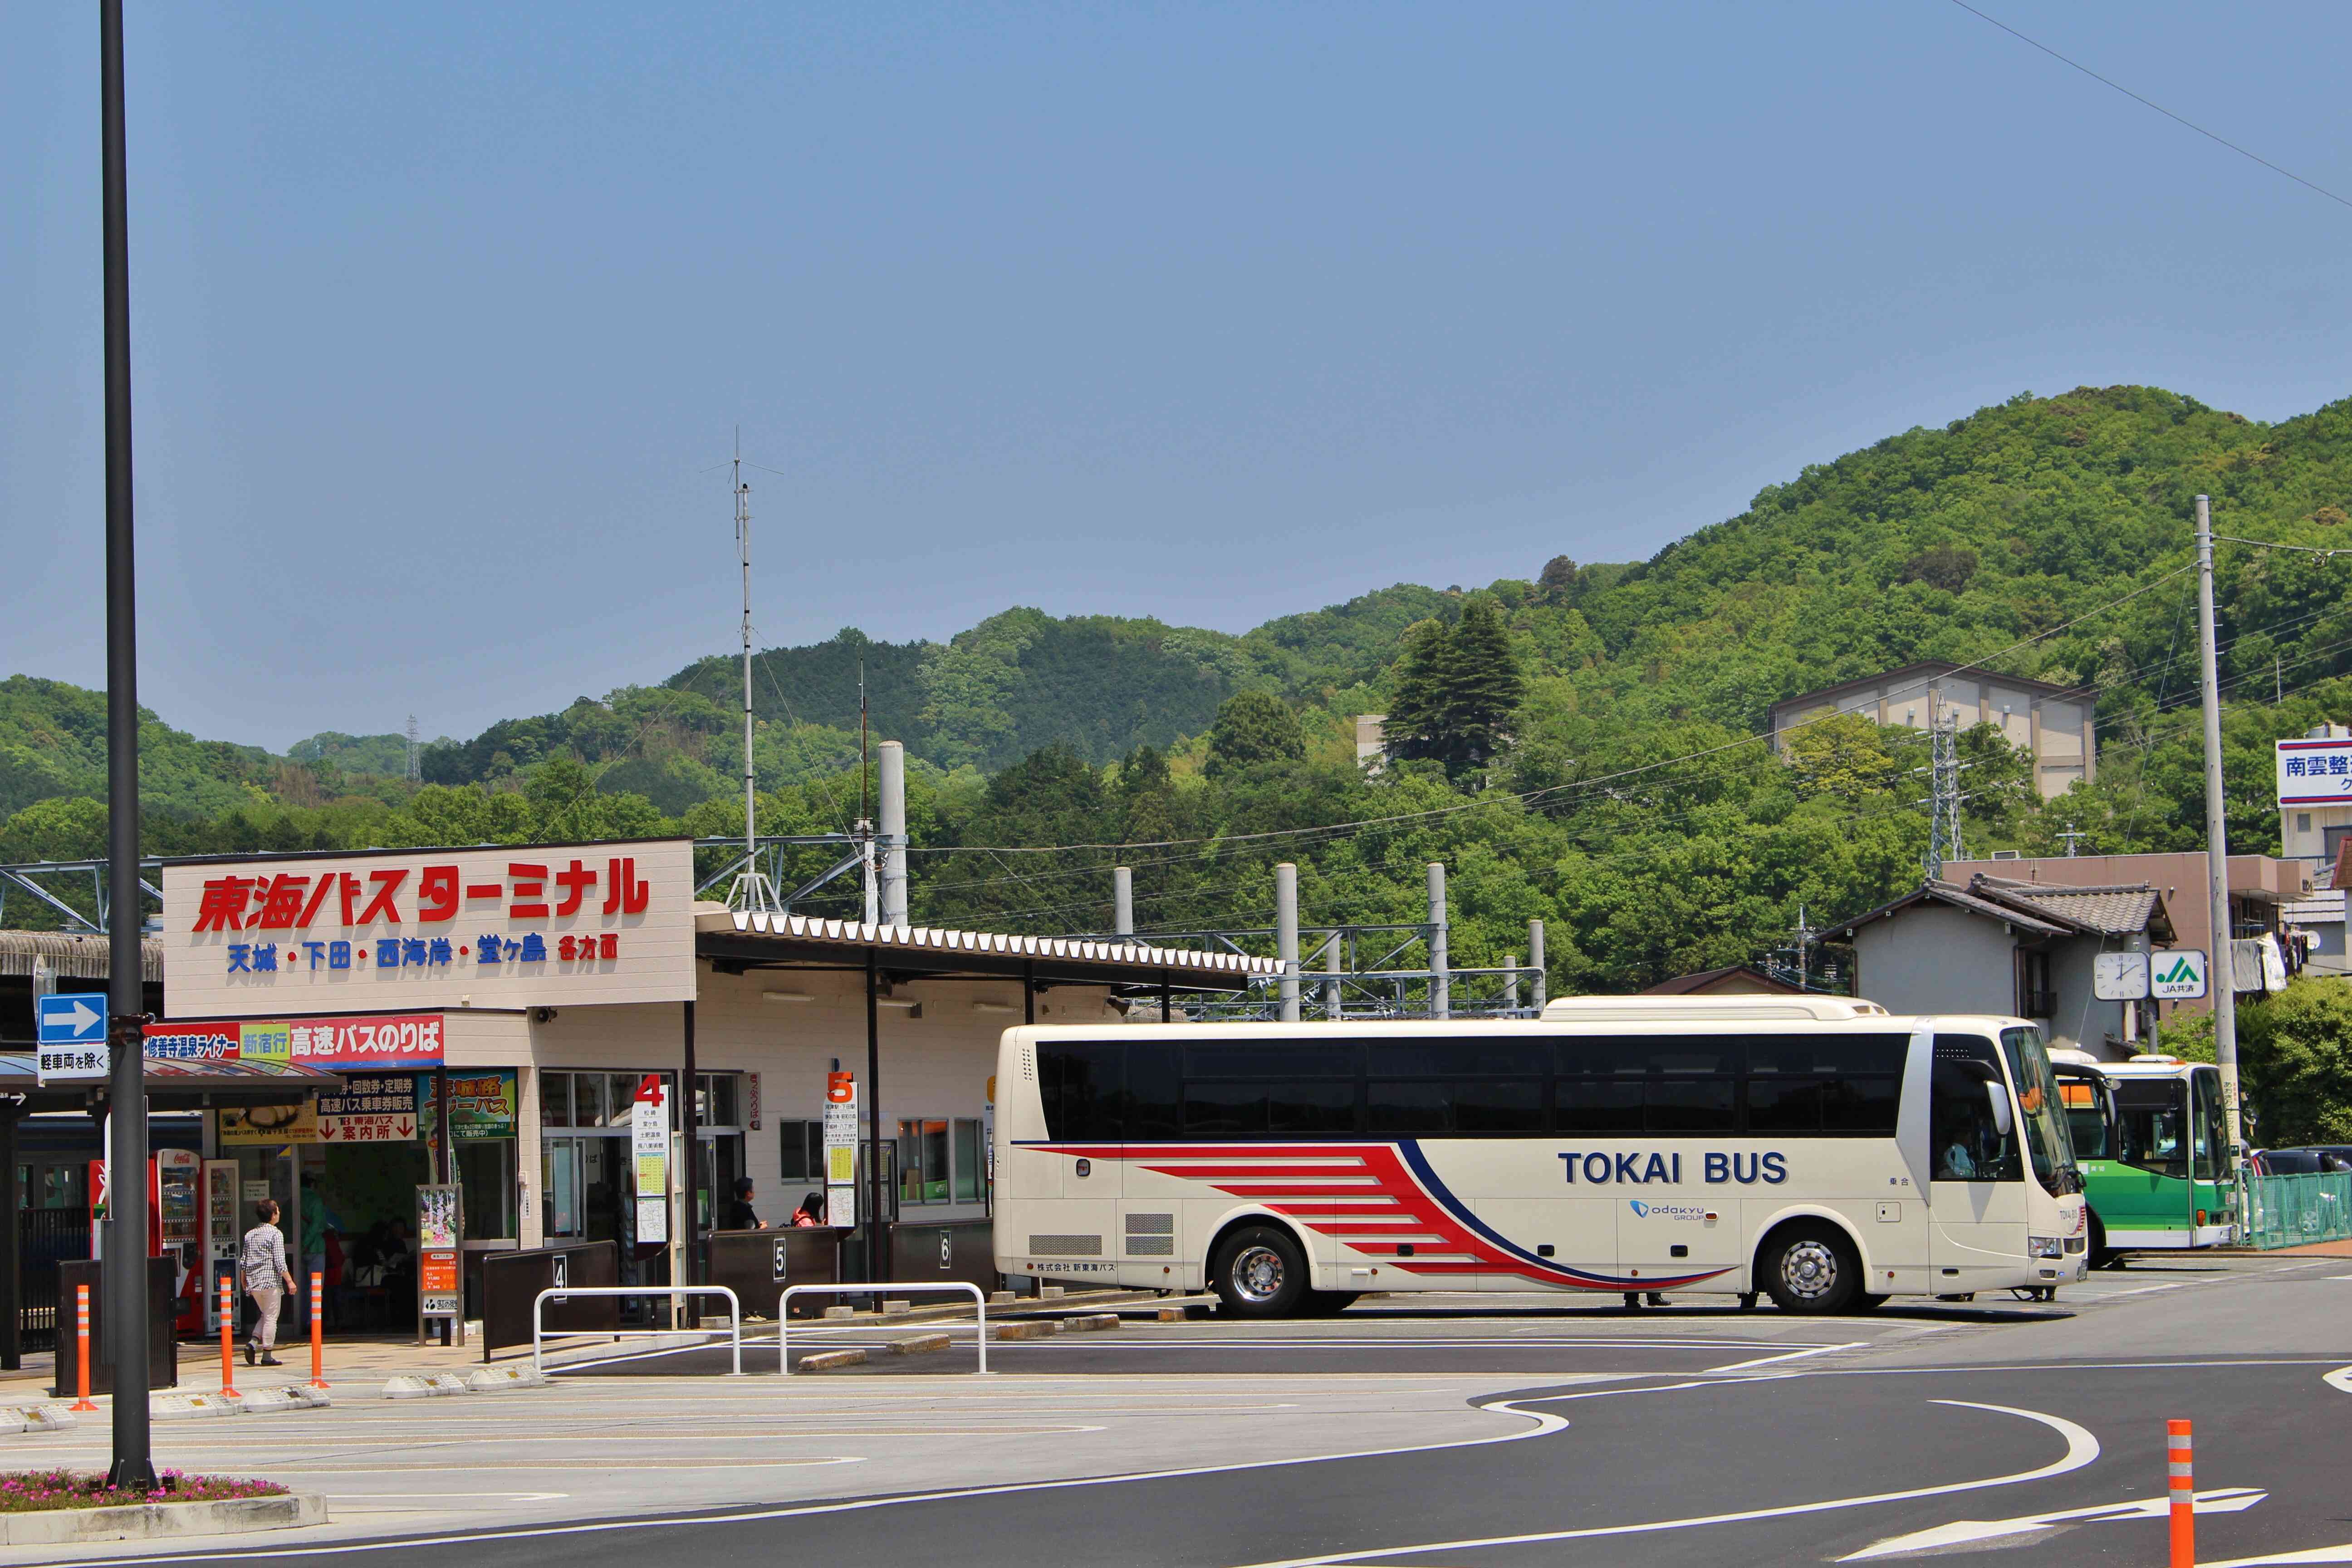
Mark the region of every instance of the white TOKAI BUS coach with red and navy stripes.
<instances>
[{"instance_id":1,"label":"white TOKAI BUS coach with red and navy stripes","mask_svg":"<svg viewBox=\"0 0 2352 1568\"><path fill-rule=\"evenodd\" d=\"M1007 1030L1007 1274L1211 1288L2049 1293L2082 1180L2042 1034L1830 997L1588 997L1534 1020Z\"/></svg>"}]
</instances>

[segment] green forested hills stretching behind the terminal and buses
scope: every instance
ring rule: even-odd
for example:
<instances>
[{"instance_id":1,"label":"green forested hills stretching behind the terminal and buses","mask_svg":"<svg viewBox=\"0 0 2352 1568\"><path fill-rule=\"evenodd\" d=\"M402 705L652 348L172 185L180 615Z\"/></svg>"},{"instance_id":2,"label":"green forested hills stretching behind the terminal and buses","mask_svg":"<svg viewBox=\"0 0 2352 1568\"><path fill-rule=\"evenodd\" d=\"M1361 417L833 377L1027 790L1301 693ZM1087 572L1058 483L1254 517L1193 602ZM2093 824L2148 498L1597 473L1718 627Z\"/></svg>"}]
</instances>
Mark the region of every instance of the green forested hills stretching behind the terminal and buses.
<instances>
[{"instance_id":1,"label":"green forested hills stretching behind the terminal and buses","mask_svg":"<svg viewBox=\"0 0 2352 1568\"><path fill-rule=\"evenodd\" d=\"M2197 844L2180 567L2199 491L2225 536L2352 550L2352 402L2260 425L2154 388L2020 395L1811 465L1649 562L1578 564L1564 534L1564 555L1529 562L1526 578L1468 595L1397 585L1240 637L1033 609L946 644L844 630L757 661L760 820L856 816L863 658L875 736L906 741L917 764L917 919L1098 929L1108 867L1124 860L1148 926L1263 924L1282 858L1301 865L1308 919L1411 919L1421 863L1446 860L1456 961L1496 961L1545 917L1555 983L1646 985L1752 959L1799 907L1825 924L1917 882L1912 736L1823 726L1792 764L1757 736L1778 698L1919 658L1990 661L2098 698L2098 783L2049 806L2020 792L2013 757L1971 738L1971 849L2051 849L2070 823L2096 851ZM2347 578L2352 557L2220 550L2239 849L2277 846L2270 741L2352 719ZM1468 646L1510 670L1458 668ZM739 830L739 679L715 656L435 743L421 790L358 764L390 738L320 736L280 759L158 724L151 839ZM1352 715L1397 703L1451 722L1446 703L1470 686L1510 693L1479 731L1503 736L1491 757L1432 745L1418 750L1451 764L1357 769ZM16 811L0 860L96 842L99 708L52 682L0 686L0 806ZM847 893L826 898L847 910Z\"/></svg>"}]
</instances>

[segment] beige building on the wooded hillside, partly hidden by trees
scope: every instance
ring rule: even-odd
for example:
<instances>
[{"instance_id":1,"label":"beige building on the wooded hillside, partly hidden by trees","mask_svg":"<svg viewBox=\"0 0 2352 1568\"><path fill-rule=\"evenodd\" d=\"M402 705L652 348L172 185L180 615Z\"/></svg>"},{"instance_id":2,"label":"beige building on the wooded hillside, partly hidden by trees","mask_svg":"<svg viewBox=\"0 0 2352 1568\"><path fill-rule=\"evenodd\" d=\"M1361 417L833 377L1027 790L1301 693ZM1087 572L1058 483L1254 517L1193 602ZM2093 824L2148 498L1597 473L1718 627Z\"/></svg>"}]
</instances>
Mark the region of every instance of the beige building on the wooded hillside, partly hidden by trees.
<instances>
[{"instance_id":1,"label":"beige building on the wooded hillside, partly hidden by trees","mask_svg":"<svg viewBox=\"0 0 2352 1568\"><path fill-rule=\"evenodd\" d=\"M2011 745L2032 755L2042 799L2053 799L2077 778L2098 778L2096 705L2089 691L1931 658L1776 703L1771 743L1776 752L1785 750L1790 729L1837 712L1905 729L1929 729L1936 715L1945 722L1957 717L1962 729L1999 724Z\"/></svg>"}]
</instances>

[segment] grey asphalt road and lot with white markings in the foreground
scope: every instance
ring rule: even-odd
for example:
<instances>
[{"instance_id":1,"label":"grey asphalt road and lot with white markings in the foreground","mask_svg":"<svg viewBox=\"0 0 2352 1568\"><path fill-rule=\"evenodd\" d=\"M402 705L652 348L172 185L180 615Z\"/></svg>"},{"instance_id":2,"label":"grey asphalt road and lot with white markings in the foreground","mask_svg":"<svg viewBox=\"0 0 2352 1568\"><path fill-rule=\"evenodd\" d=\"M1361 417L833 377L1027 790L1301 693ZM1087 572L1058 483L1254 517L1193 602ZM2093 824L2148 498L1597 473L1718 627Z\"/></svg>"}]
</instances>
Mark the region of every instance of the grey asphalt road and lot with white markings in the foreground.
<instances>
[{"instance_id":1,"label":"grey asphalt road and lot with white markings in the foreground","mask_svg":"<svg viewBox=\"0 0 2352 1568\"><path fill-rule=\"evenodd\" d=\"M1322 1324L1150 1324L1002 1349L1018 1356L985 1382L948 1371L964 1352L922 1359L922 1375L743 1382L649 1375L699 1356L623 1361L508 1396L506 1427L473 1439L459 1427L489 1415L435 1418L449 1429L428 1439L369 1434L369 1413L339 1410L339 1462L355 1469L334 1544L108 1554L1512 1568L1877 1549L1863 1561L2154 1563L2161 1507L2133 1505L2164 1497L2164 1422L2187 1415L2211 1507L2201 1563L2352 1563L2352 1260L2131 1269L2056 1307L1785 1319L1416 1298ZM767 1356L762 1368L771 1345ZM640 1425L680 1399L670 1427ZM294 1420L313 1418L278 1418L270 1441L296 1441ZM452 1528L449 1495L524 1490L508 1465L534 1441L553 1453L522 1462L569 1493L564 1507L485 1507ZM397 1519L383 1476L405 1462L440 1467L414 1486L445 1497ZM468 1481L449 1476L461 1465ZM593 1519L623 1512L635 1516ZM437 1537L353 1540L405 1526ZM2340 1552L2281 1556L2326 1549Z\"/></svg>"}]
</instances>

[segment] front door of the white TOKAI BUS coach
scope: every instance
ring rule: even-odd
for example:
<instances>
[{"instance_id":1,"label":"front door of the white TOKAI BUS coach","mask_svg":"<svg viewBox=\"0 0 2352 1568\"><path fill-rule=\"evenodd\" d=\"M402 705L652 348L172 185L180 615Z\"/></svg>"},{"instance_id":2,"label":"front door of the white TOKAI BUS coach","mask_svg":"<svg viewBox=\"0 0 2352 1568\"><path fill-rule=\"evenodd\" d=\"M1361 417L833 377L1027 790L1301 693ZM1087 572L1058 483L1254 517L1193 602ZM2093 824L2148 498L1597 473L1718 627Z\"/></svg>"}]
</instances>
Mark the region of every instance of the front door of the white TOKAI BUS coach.
<instances>
[{"instance_id":1,"label":"front door of the white TOKAI BUS coach","mask_svg":"<svg viewBox=\"0 0 2352 1568\"><path fill-rule=\"evenodd\" d=\"M1938 1034L1929 1077L1929 1265L1938 1293L2025 1260L2025 1147L1999 1048Z\"/></svg>"}]
</instances>

